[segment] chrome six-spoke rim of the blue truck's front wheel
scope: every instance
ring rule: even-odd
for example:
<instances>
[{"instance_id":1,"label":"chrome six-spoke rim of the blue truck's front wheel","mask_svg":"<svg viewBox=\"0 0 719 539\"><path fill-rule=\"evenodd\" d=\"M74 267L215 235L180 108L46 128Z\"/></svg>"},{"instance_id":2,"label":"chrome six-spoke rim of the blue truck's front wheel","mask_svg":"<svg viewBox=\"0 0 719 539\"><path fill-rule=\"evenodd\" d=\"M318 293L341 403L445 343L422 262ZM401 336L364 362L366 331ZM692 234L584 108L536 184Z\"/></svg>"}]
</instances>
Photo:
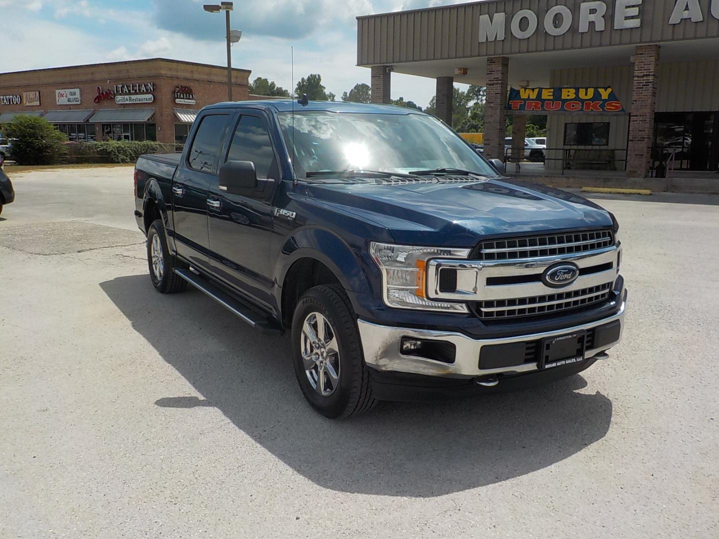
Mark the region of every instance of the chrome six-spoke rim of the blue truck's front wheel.
<instances>
[{"instance_id":1,"label":"chrome six-spoke rim of the blue truck's front wheel","mask_svg":"<svg viewBox=\"0 0 719 539\"><path fill-rule=\"evenodd\" d=\"M329 321L310 313L302 325L302 361L313 389L329 397L339 386L339 346Z\"/></svg>"}]
</instances>

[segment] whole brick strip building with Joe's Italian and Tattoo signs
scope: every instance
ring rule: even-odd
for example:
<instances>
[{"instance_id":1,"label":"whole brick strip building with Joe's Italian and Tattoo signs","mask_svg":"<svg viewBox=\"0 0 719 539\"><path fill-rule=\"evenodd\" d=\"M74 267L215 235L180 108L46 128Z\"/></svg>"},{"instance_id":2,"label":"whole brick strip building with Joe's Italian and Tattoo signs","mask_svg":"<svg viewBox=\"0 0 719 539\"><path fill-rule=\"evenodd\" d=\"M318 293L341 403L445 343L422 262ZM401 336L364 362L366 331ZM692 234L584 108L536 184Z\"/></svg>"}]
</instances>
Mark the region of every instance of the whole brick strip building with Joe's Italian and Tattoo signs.
<instances>
[{"instance_id":1,"label":"whole brick strip building with Joe's Italian and Tattoo signs","mask_svg":"<svg viewBox=\"0 0 719 539\"><path fill-rule=\"evenodd\" d=\"M235 100L249 70L232 70ZM155 58L0 73L0 132L18 114L42 116L70 142L184 143L199 109L226 101L227 69Z\"/></svg>"}]
</instances>

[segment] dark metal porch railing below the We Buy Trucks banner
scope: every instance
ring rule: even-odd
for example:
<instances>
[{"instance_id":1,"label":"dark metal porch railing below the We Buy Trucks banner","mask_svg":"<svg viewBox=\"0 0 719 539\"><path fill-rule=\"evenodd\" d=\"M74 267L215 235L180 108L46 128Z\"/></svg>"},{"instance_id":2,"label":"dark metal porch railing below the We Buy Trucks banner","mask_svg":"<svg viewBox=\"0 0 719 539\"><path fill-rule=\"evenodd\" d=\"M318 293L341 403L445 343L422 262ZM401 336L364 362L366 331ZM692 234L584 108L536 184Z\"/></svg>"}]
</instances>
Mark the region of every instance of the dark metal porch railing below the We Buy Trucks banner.
<instances>
[{"instance_id":1,"label":"dark metal porch railing below the We Buy Trucks banner","mask_svg":"<svg viewBox=\"0 0 719 539\"><path fill-rule=\"evenodd\" d=\"M533 151L537 152L539 150ZM627 167L626 148L544 148L541 150L543 157L535 157L534 159L531 154L527 156L526 149L522 148L520 150L521 159L519 160L513 159L515 152L516 149L514 148L505 148L503 161L507 171L508 163L513 162L517 174L521 174L521 165L527 161L542 162L545 165L546 162L559 161L561 166L552 168L562 170L562 175L567 170L626 170Z\"/></svg>"}]
</instances>

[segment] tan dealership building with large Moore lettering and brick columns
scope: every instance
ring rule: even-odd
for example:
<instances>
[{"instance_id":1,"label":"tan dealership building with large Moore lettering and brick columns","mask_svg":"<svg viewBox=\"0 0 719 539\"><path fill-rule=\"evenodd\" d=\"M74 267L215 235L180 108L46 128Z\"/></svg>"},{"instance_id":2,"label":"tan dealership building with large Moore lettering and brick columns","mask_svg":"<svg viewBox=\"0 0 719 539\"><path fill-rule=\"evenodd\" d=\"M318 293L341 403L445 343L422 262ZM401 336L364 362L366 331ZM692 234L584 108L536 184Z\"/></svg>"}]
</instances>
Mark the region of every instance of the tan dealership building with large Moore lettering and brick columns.
<instances>
[{"instance_id":1,"label":"tan dealership building with large Moore lettering and brick columns","mask_svg":"<svg viewBox=\"0 0 719 539\"><path fill-rule=\"evenodd\" d=\"M486 86L487 157L519 155L546 114L547 173L661 189L719 170L719 0L487 0L359 17L357 40L377 103L392 73L434 78L449 123L453 83Z\"/></svg>"}]
</instances>

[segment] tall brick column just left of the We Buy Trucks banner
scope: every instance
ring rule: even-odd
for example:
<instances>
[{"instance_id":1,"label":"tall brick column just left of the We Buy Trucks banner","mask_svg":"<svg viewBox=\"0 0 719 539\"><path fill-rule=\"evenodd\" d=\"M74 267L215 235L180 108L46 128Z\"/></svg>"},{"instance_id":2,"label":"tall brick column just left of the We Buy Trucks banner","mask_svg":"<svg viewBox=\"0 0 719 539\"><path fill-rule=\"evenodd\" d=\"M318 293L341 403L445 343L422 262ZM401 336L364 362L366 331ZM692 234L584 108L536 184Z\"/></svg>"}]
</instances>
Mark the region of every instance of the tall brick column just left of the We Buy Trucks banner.
<instances>
[{"instance_id":1,"label":"tall brick column just left of the We Buy Trucks banner","mask_svg":"<svg viewBox=\"0 0 719 539\"><path fill-rule=\"evenodd\" d=\"M487 104L485 108L485 157L487 159L504 159L508 75L508 57L487 58Z\"/></svg>"}]
</instances>

